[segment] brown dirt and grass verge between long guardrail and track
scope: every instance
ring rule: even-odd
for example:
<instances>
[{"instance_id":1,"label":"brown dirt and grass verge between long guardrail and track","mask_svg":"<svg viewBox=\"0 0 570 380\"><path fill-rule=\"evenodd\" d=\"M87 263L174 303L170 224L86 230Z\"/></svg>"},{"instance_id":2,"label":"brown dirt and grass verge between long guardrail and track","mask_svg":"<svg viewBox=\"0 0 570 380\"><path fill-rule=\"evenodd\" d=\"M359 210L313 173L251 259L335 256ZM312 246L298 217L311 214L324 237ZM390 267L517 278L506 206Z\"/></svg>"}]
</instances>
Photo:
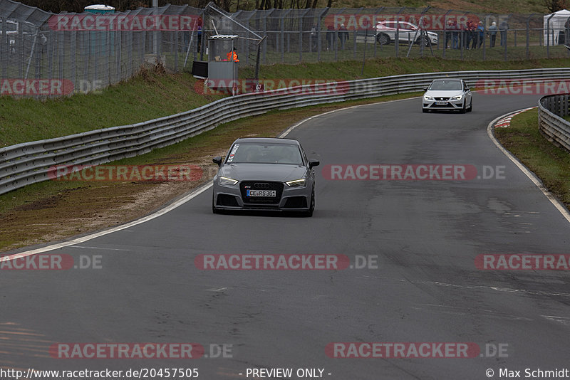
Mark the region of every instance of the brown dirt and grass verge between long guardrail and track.
<instances>
[{"instance_id":1,"label":"brown dirt and grass verge between long guardrail and track","mask_svg":"<svg viewBox=\"0 0 570 380\"><path fill-rule=\"evenodd\" d=\"M405 96L398 95L398 97ZM393 98L388 97L386 100ZM0 251L59 241L133 221L159 209L177 196L211 181L217 172L217 165L212 163L212 158L224 156L229 145L238 137L275 137L306 117L348 105L374 101L378 100L290 110L279 112L279 117L271 113L236 120L187 139L176 146L158 149L157 152L134 157L128 162L128 164L197 165L202 169L202 177L195 181L91 181L88 184L73 183L73 186L53 182L20 196L21 201L14 201L13 206L5 206L6 199L16 196L11 193L4 194L0 196L2 225ZM209 205L207 207L209 208Z\"/></svg>"}]
</instances>

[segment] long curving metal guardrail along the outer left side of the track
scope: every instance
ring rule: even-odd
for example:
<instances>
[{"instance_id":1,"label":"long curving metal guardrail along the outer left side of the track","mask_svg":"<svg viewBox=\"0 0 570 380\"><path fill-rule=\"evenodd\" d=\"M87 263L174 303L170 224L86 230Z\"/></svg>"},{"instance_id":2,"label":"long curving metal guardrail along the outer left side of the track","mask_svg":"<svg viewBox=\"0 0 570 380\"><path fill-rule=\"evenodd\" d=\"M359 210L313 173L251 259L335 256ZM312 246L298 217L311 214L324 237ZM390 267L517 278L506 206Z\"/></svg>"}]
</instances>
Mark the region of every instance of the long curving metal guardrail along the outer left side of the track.
<instances>
[{"instance_id":1,"label":"long curving metal guardrail along the outer left side of the track","mask_svg":"<svg viewBox=\"0 0 570 380\"><path fill-rule=\"evenodd\" d=\"M46 181L49 169L58 165L93 166L134 157L211 130L224 122L270 110L422 91L436 78L462 78L471 86L480 85L483 80L526 79L532 82L570 78L570 68L394 75L225 97L194 110L147 122L1 148L0 194Z\"/></svg>"}]
</instances>

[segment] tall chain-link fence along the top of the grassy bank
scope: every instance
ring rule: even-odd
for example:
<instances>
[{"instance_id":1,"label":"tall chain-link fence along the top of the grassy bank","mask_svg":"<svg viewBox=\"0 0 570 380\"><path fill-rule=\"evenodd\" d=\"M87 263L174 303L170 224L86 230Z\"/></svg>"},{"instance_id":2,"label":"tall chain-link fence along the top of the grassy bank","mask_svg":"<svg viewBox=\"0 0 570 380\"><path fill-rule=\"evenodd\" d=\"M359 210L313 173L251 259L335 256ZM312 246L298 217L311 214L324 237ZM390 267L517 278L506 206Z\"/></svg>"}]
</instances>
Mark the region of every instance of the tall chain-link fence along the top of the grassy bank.
<instances>
[{"instance_id":1,"label":"tall chain-link fence along the top of the grassy bank","mask_svg":"<svg viewBox=\"0 0 570 380\"><path fill-rule=\"evenodd\" d=\"M224 17L167 5L120 14L51 14L0 0L0 95L57 97L118 83L145 63L207 60L207 38L239 36L239 65L435 56L568 58L570 12L475 14L436 8L271 9Z\"/></svg>"}]
</instances>

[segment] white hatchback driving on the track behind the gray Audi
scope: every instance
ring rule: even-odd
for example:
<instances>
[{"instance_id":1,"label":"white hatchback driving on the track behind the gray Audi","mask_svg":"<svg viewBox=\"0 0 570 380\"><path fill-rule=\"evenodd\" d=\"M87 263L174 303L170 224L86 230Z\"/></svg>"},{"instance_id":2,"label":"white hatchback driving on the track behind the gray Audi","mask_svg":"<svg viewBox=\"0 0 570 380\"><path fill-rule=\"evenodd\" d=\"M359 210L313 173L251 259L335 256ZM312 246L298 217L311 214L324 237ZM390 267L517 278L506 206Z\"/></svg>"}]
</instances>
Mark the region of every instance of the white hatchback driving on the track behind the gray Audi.
<instances>
[{"instance_id":1,"label":"white hatchback driving on the track behind the gray Audi","mask_svg":"<svg viewBox=\"0 0 570 380\"><path fill-rule=\"evenodd\" d=\"M461 113L473 110L471 90L462 79L436 79L425 89L422 111L457 110Z\"/></svg>"}]
</instances>

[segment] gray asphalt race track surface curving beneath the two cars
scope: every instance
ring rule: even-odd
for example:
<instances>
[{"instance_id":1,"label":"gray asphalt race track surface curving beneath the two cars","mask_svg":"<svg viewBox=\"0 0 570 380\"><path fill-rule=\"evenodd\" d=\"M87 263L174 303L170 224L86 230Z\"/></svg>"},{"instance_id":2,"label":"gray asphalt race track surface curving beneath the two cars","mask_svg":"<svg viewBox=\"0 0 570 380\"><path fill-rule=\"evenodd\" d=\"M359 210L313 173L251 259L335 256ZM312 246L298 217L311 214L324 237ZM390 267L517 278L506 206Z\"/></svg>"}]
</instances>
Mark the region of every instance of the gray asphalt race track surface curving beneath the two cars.
<instances>
[{"instance_id":1,"label":"gray asphalt race track surface curving beneath the two cars","mask_svg":"<svg viewBox=\"0 0 570 380\"><path fill-rule=\"evenodd\" d=\"M247 376L261 368L294 371L265 379L317 379L319 371L295 371L323 369L335 380L488 379L487 369L498 379L500 369L524 377L527 368L568 368L569 272L475 265L482 254L569 253L569 222L487 135L495 117L538 98L475 94L465 115L423 114L416 98L315 117L287 136L321 161L313 218L214 215L207 189L138 226L49 252L76 264L95 258L100 268L2 270L0 367L195 368L198 379L261 379ZM334 164L472 165L480 178L328 180L323 169ZM482 178L489 168L499 175ZM377 256L377 264L195 266L197 255L232 253L346 255L353 267ZM58 342L193 342L208 357L61 359L49 351ZM335 358L326 351L334 342L470 342L479 351Z\"/></svg>"}]
</instances>

